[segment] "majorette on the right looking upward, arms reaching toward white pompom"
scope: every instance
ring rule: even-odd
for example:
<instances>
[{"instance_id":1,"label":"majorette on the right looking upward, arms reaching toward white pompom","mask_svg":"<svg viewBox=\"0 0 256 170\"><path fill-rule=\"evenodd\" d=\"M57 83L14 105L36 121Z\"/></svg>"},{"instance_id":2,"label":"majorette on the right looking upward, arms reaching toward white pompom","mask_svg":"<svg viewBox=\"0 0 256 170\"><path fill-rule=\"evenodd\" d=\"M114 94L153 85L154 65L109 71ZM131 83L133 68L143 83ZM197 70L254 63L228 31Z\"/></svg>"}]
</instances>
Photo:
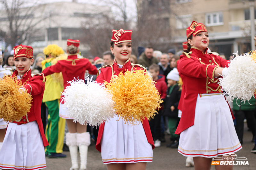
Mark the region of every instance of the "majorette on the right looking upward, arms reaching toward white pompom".
<instances>
[{"instance_id":1,"label":"majorette on the right looking upward, arms reaching toward white pompom","mask_svg":"<svg viewBox=\"0 0 256 170\"><path fill-rule=\"evenodd\" d=\"M193 157L195 169L211 169L212 158L239 151L234 116L220 90L218 78L229 60L207 53L206 27L192 22L187 28L188 50L180 56L179 72L185 90L182 116L176 130L180 135L178 152ZM233 165L216 165L233 169Z\"/></svg>"}]
</instances>

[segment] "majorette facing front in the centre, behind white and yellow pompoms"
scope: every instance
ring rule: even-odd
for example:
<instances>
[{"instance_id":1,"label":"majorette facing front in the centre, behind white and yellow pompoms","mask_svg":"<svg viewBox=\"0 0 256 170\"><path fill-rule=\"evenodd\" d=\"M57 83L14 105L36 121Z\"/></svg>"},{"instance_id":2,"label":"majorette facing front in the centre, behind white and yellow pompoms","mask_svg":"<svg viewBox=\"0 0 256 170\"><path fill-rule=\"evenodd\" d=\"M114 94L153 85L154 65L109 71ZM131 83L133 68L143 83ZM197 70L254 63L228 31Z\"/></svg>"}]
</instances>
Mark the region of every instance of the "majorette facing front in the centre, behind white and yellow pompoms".
<instances>
[{"instance_id":1,"label":"majorette facing front in the centre, behind white and yellow pompoms","mask_svg":"<svg viewBox=\"0 0 256 170\"><path fill-rule=\"evenodd\" d=\"M130 62L132 52L132 31L112 30L111 52L115 62L100 68L96 78L97 83L109 82L121 71L145 69L139 64ZM115 116L110 121L100 125L96 149L101 152L102 161L108 170L145 170L147 162L152 162L154 142L148 120L136 125L124 123L123 119Z\"/></svg>"}]
</instances>

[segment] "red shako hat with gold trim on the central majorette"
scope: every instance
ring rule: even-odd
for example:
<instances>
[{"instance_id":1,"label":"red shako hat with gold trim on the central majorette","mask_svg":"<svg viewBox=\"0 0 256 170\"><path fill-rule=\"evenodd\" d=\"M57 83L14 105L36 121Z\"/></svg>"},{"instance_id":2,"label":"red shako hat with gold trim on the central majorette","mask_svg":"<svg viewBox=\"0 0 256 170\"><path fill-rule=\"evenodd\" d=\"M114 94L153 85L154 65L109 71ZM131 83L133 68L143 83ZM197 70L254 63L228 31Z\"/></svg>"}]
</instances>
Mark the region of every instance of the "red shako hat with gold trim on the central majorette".
<instances>
[{"instance_id":1,"label":"red shako hat with gold trim on the central majorette","mask_svg":"<svg viewBox=\"0 0 256 170\"><path fill-rule=\"evenodd\" d=\"M132 31L125 31L123 29L120 30L112 30L112 38L111 41L115 41L115 45L122 42L132 42Z\"/></svg>"}]
</instances>

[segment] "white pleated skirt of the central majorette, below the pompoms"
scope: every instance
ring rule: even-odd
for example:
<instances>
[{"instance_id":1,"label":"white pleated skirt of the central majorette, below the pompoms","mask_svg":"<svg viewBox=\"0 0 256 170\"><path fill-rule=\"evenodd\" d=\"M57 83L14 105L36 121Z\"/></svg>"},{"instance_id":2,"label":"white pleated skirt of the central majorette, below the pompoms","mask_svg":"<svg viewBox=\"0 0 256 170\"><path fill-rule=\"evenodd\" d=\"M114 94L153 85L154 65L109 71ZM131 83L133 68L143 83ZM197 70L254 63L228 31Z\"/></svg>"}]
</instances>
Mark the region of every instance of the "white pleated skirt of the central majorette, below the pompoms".
<instances>
[{"instance_id":1,"label":"white pleated skirt of the central majorette, below the pompoms","mask_svg":"<svg viewBox=\"0 0 256 170\"><path fill-rule=\"evenodd\" d=\"M105 122L101 138L101 157L104 164L152 162L153 149L148 143L142 122L124 124L115 116Z\"/></svg>"}]
</instances>

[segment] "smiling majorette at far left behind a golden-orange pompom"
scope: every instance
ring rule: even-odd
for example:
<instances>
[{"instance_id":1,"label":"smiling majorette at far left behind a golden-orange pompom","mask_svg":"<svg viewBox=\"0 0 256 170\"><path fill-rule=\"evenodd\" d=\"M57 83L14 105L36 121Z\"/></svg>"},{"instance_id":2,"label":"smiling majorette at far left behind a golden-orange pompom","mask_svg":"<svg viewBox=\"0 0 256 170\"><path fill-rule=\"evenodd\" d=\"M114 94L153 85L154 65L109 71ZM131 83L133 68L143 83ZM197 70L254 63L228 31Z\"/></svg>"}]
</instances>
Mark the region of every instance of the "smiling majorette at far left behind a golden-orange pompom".
<instances>
[{"instance_id":1,"label":"smiling majorette at far left behind a golden-orange pompom","mask_svg":"<svg viewBox=\"0 0 256 170\"><path fill-rule=\"evenodd\" d=\"M41 120L41 103L44 95L44 74L31 74L33 48L19 45L13 48L16 70L12 77L20 79L24 89L33 97L26 116L8 124L0 151L0 168L28 169L46 168L44 147L49 145Z\"/></svg>"}]
</instances>

